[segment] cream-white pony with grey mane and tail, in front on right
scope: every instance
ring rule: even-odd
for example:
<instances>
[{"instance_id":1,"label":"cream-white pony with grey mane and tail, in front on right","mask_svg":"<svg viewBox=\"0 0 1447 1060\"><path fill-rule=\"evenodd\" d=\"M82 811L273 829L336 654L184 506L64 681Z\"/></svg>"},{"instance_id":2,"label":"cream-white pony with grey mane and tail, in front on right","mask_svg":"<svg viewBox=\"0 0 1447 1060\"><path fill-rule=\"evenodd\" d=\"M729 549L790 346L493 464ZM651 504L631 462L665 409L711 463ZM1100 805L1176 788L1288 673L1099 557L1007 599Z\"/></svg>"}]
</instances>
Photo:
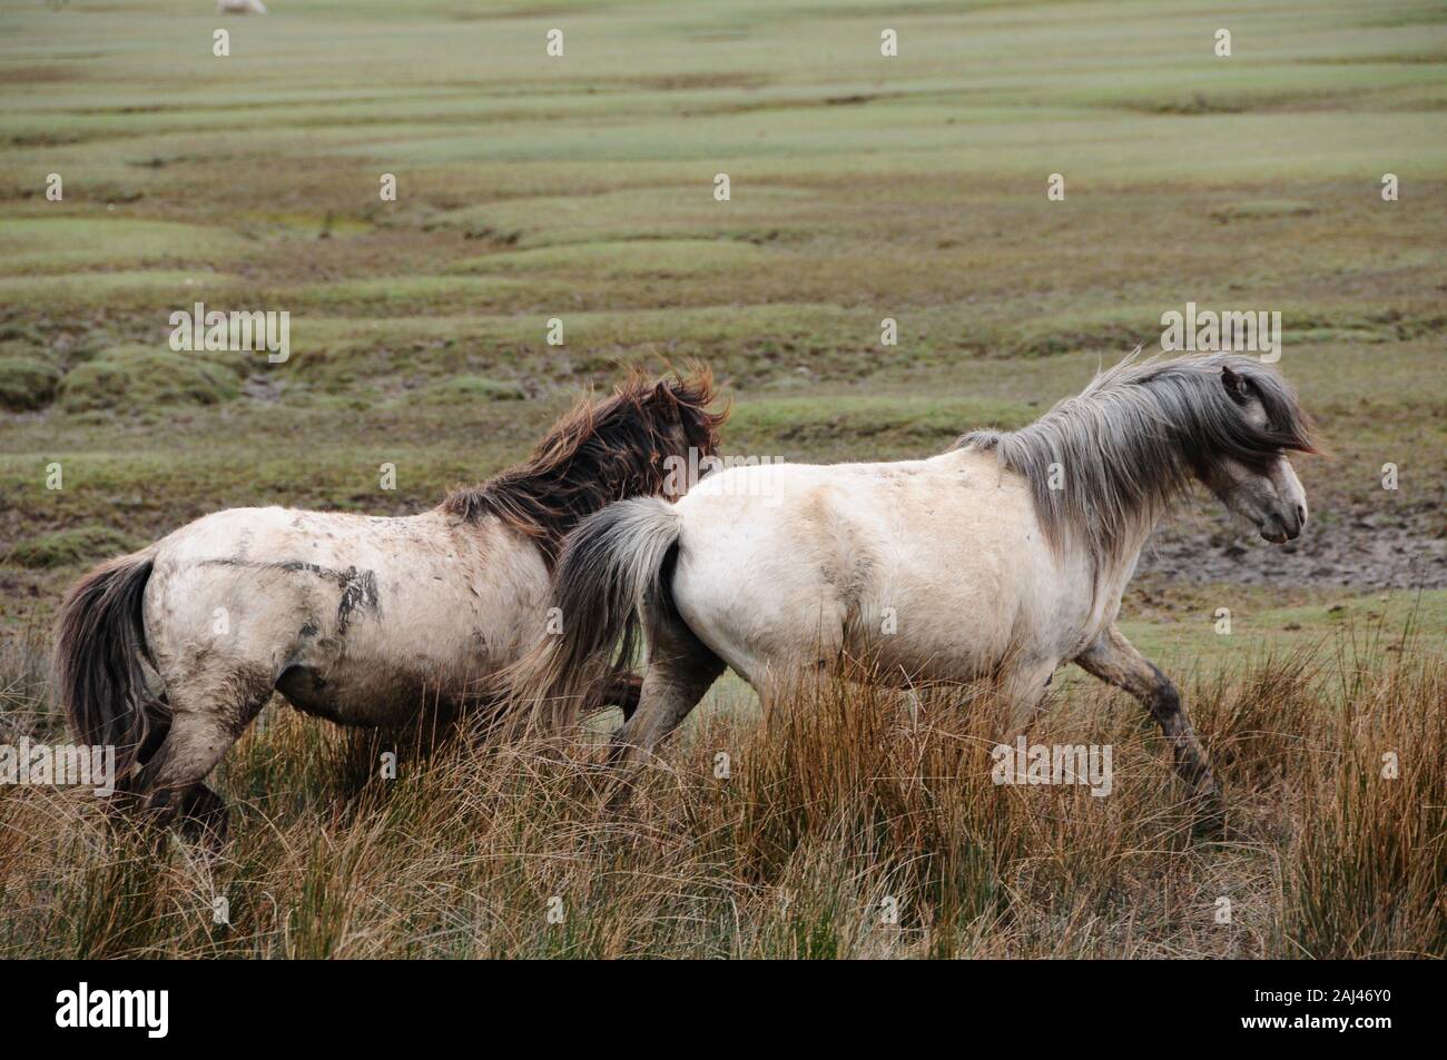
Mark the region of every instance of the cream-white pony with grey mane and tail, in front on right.
<instances>
[{"instance_id":1,"label":"cream-white pony with grey mane and tail, in front on right","mask_svg":"<svg viewBox=\"0 0 1447 1060\"><path fill-rule=\"evenodd\" d=\"M564 544L564 632L519 664L518 709L567 726L599 707L596 680L615 655L631 659L640 616L648 668L615 738L634 764L725 667L765 709L851 658L900 683L991 678L1023 727L1056 667L1077 662L1149 707L1215 814L1176 690L1116 613L1191 479L1268 541L1301 534L1292 450L1315 451L1310 421L1257 362L1127 359L1035 424L968 434L928 460L738 467L677 505L611 505Z\"/></svg>"}]
</instances>

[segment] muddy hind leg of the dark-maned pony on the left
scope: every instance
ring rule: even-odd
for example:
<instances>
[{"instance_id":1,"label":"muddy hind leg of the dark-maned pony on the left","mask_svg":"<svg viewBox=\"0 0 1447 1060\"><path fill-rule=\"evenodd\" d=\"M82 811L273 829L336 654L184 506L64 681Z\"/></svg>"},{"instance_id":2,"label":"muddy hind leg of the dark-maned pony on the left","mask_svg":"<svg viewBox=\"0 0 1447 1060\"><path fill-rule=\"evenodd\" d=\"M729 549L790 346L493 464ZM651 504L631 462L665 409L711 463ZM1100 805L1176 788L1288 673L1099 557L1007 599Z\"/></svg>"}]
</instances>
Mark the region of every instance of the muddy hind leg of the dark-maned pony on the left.
<instances>
[{"instance_id":1,"label":"muddy hind leg of the dark-maned pony on the left","mask_svg":"<svg viewBox=\"0 0 1447 1060\"><path fill-rule=\"evenodd\" d=\"M249 667L166 681L171 727L130 788L158 823L175 821L188 839L211 846L226 842L226 803L203 781L271 693L271 675Z\"/></svg>"}]
</instances>

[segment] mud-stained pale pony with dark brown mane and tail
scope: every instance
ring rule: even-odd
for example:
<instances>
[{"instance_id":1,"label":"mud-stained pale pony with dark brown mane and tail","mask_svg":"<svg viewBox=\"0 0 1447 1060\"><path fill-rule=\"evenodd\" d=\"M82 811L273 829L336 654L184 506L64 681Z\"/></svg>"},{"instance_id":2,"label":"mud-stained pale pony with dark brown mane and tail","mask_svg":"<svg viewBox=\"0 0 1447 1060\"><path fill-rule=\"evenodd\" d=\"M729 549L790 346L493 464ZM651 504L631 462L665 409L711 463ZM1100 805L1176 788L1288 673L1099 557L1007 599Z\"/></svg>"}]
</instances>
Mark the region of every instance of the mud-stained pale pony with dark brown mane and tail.
<instances>
[{"instance_id":1,"label":"mud-stained pale pony with dark brown mane and tail","mask_svg":"<svg viewBox=\"0 0 1447 1060\"><path fill-rule=\"evenodd\" d=\"M660 496L670 458L718 448L699 369L640 373L582 401L527 463L407 518L236 508L77 583L55 681L75 735L116 748L117 788L224 837L203 779L278 691L298 710L385 726L495 697L548 622L563 538L615 500ZM601 696L625 710L635 678Z\"/></svg>"}]
</instances>

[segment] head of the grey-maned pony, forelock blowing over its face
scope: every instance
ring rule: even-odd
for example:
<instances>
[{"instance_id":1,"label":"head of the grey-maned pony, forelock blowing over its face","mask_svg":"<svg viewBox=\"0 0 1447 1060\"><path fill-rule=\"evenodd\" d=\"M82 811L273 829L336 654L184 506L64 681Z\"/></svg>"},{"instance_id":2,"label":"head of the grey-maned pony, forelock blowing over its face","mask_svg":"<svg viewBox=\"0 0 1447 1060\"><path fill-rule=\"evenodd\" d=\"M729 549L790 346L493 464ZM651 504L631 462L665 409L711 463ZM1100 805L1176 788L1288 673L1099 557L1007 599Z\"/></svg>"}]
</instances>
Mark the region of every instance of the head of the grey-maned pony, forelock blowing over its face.
<instances>
[{"instance_id":1,"label":"head of the grey-maned pony, forelock blowing over its face","mask_svg":"<svg viewBox=\"0 0 1447 1060\"><path fill-rule=\"evenodd\" d=\"M1213 450L1195 454L1197 477L1266 541L1283 544L1307 525L1307 492L1289 453L1317 453L1311 421L1273 372L1247 357L1210 364L1226 402Z\"/></svg>"}]
</instances>

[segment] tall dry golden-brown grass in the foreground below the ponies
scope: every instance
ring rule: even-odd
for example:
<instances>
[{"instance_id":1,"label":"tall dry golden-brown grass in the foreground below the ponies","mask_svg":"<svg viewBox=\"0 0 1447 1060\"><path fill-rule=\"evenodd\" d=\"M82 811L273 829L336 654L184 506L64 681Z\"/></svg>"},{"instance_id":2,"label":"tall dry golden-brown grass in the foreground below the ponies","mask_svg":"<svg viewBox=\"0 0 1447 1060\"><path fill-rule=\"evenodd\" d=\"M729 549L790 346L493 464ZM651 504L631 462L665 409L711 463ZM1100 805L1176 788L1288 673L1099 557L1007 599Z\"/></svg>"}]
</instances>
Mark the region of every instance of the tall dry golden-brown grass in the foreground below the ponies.
<instances>
[{"instance_id":1,"label":"tall dry golden-brown grass in the foreground below the ponies","mask_svg":"<svg viewBox=\"0 0 1447 1060\"><path fill-rule=\"evenodd\" d=\"M828 685L702 722L614 814L596 748L272 706L224 768L218 858L0 788L0 956L1443 956L1444 685L1409 644L1194 681L1230 803L1211 843L1145 711L1087 683L1030 739L1110 743L1104 798L997 787L978 697ZM27 703L12 720L54 732Z\"/></svg>"}]
</instances>

